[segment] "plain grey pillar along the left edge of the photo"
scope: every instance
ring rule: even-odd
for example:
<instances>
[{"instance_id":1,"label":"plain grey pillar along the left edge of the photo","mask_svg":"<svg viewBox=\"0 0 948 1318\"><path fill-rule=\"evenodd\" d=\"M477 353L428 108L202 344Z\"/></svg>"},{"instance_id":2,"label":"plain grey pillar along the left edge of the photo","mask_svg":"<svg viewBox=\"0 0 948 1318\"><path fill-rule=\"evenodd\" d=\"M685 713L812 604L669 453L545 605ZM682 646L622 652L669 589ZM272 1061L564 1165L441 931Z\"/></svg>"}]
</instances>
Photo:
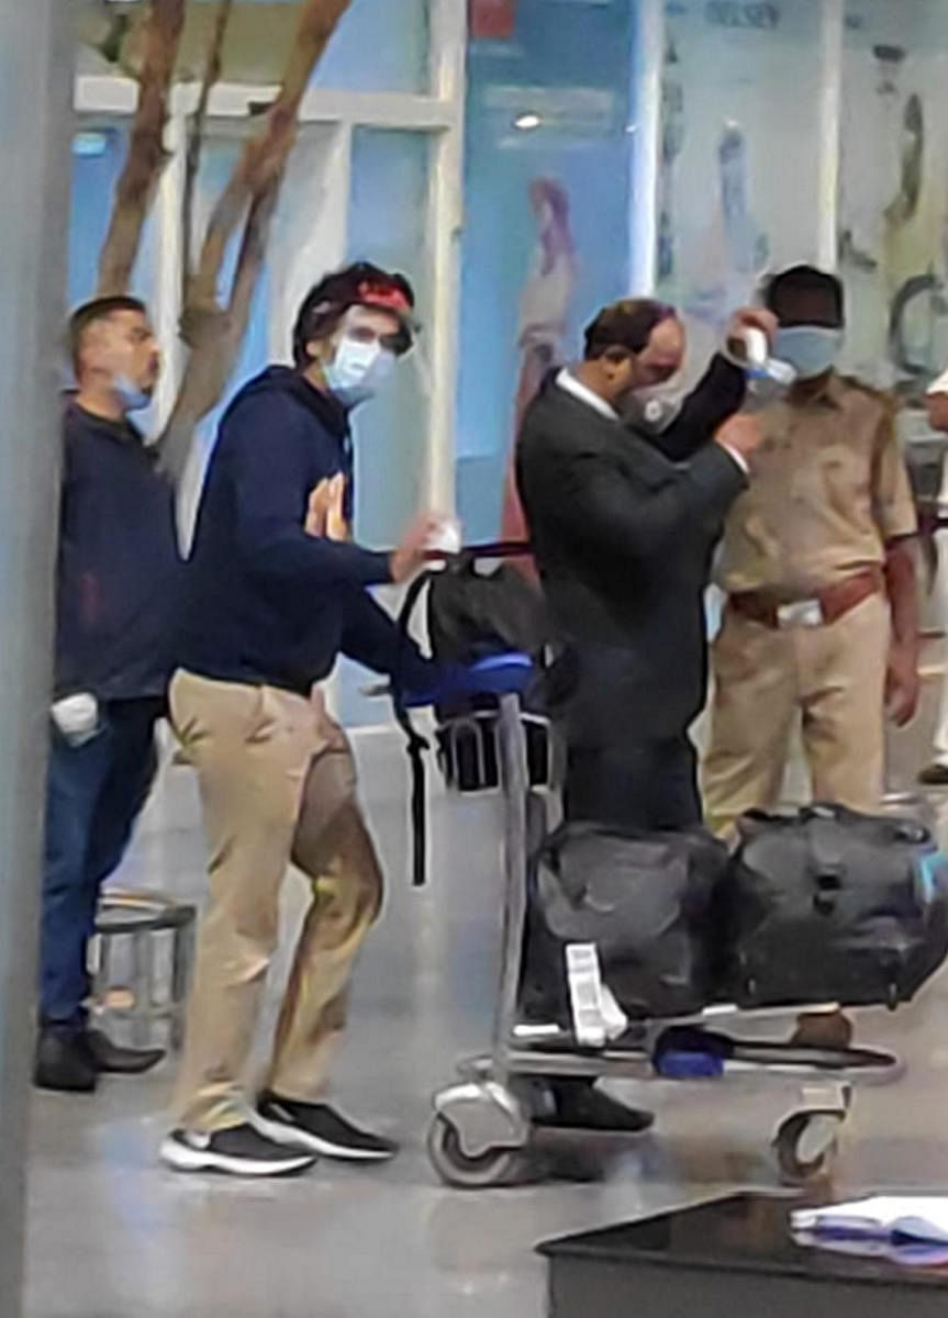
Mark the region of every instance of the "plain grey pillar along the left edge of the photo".
<instances>
[{"instance_id":1,"label":"plain grey pillar along the left edge of the photo","mask_svg":"<svg viewBox=\"0 0 948 1318\"><path fill-rule=\"evenodd\" d=\"M0 1311L20 1314L44 813L58 368L69 224L69 0L0 0Z\"/></svg>"}]
</instances>

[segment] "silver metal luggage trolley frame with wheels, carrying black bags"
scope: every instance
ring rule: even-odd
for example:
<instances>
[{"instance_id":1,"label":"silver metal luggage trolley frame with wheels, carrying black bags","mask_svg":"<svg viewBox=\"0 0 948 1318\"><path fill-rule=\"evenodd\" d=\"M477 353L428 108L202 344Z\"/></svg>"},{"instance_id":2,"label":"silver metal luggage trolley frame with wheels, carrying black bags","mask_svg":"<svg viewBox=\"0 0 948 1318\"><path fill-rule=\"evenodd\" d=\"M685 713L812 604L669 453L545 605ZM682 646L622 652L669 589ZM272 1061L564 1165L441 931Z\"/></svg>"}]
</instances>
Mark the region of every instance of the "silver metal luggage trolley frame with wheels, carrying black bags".
<instances>
[{"instance_id":1,"label":"silver metal luggage trolley frame with wheels, carrying black bags","mask_svg":"<svg viewBox=\"0 0 948 1318\"><path fill-rule=\"evenodd\" d=\"M487 1056L460 1062L458 1082L435 1095L427 1137L434 1169L444 1182L463 1189L510 1185L529 1178L537 1128L531 1095L542 1079L655 1078L655 1048L674 1027L720 1031L729 1019L773 1019L788 1014L787 1008L741 1012L736 1007L715 1006L696 1017L636 1021L632 1044L625 1045L622 1040L622 1046L607 1044L603 1048L581 1048L575 1036L564 1032L555 1043L551 1037L527 1040L518 1029L529 858L547 829L548 797L530 783L519 695L523 656L512 655L510 659L509 689L498 697L496 724L504 800L505 891L492 1045ZM492 692L498 695L496 668ZM802 1010L820 1008L807 1004ZM874 1049L824 1050L785 1043L733 1043L734 1056L717 1083L726 1081L728 1072L738 1070L782 1075L785 1081L796 1077L800 1082L799 1097L778 1123L771 1141L777 1168L790 1185L804 1185L831 1168L849 1114L853 1079L898 1074L897 1057Z\"/></svg>"}]
</instances>

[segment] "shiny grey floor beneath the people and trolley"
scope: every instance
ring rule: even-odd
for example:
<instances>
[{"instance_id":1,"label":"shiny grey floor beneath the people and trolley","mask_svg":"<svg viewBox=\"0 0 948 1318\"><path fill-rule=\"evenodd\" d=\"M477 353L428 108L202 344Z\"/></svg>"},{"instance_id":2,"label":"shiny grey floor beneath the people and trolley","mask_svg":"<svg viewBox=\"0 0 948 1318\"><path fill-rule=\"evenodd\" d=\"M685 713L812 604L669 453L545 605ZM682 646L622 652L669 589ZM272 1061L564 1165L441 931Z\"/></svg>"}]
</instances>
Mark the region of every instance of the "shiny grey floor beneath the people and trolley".
<instances>
[{"instance_id":1,"label":"shiny grey floor beneath the people and trolley","mask_svg":"<svg viewBox=\"0 0 948 1318\"><path fill-rule=\"evenodd\" d=\"M923 758L930 724L931 709L894 747L897 783ZM494 805L436 808L432 880L411 891L401 750L365 735L360 759L390 892L360 967L338 1095L401 1136L403 1156L382 1169L323 1164L287 1184L175 1178L156 1162L170 1064L146 1079L109 1082L91 1099L38 1095L30 1318L539 1318L538 1240L723 1185L774 1184L765 1151L792 1101L790 1081L650 1086L655 1133L634 1148L601 1147L599 1184L460 1194L435 1182L423 1152L430 1094L489 1031L500 900ZM187 770L167 772L124 878L200 892ZM287 927L299 898L294 890L287 899ZM943 978L916 1007L870 1012L861 1023L864 1037L899 1049L908 1073L860 1090L841 1185L948 1190L947 1016Z\"/></svg>"}]
</instances>

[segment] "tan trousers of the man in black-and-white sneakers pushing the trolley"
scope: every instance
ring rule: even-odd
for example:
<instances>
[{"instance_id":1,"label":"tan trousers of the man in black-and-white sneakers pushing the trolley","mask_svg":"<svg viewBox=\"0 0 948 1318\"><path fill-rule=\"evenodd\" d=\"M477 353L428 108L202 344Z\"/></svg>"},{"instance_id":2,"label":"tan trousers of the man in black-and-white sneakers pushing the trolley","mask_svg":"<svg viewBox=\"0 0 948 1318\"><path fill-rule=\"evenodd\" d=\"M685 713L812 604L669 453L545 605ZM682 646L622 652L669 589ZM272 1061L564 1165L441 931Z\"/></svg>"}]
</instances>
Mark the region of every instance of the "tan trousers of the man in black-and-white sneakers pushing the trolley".
<instances>
[{"instance_id":1,"label":"tan trousers of the man in black-and-white sneakers pushing the trolley","mask_svg":"<svg viewBox=\"0 0 948 1318\"><path fill-rule=\"evenodd\" d=\"M382 876L356 799L349 743L312 700L179 671L171 717L198 770L210 902L189 1003L175 1114L186 1130L247 1120L243 1081L277 945L290 862L312 883L265 1087L320 1098L349 974Z\"/></svg>"}]
</instances>

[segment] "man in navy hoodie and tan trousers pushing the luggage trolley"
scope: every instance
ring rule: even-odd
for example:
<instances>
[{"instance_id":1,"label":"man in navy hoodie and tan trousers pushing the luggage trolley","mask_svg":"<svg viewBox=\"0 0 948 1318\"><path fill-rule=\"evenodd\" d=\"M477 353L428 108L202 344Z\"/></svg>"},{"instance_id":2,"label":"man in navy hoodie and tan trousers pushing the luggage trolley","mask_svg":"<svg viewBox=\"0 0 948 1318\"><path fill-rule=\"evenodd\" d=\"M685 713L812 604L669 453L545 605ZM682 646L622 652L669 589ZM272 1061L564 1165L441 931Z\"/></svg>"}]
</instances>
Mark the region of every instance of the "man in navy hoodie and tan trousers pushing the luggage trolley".
<instances>
[{"instance_id":1,"label":"man in navy hoodie and tan trousers pushing the luggage trolley","mask_svg":"<svg viewBox=\"0 0 948 1318\"><path fill-rule=\"evenodd\" d=\"M340 654L381 672L398 634L368 587L422 564L432 519L392 555L349 539L349 413L411 347L407 282L369 265L330 275L299 312L295 369L270 368L220 427L198 513L178 737L200 779L210 855L187 1040L162 1144L177 1170L273 1176L319 1155L392 1157L394 1144L330 1107L324 1085L349 973L382 880L349 745L319 683ZM430 684L411 654L409 685ZM241 1087L277 942L290 862L312 882L262 1093Z\"/></svg>"}]
</instances>

